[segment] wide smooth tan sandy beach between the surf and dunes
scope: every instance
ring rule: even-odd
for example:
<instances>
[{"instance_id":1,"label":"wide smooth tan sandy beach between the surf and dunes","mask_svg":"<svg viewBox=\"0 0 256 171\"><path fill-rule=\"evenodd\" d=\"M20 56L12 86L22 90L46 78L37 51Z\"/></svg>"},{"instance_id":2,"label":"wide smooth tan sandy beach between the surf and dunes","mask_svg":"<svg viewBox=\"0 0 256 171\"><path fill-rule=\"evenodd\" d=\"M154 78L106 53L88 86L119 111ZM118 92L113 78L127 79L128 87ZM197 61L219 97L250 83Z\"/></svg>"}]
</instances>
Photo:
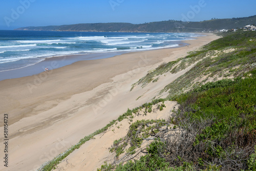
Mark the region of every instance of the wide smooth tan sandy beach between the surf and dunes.
<instances>
[{"instance_id":1,"label":"wide smooth tan sandy beach between the surf and dunes","mask_svg":"<svg viewBox=\"0 0 256 171\"><path fill-rule=\"evenodd\" d=\"M168 73L145 88L130 91L132 84L162 62L185 57L187 52L219 38L205 35L186 40L188 47L78 61L49 72L0 81L1 120L8 114L9 126L9 165L7 168L1 164L0 170L36 170L84 136L118 118L127 108L151 101L166 84L191 67L177 74ZM51 65L58 65L57 60L52 59ZM3 134L0 139L3 149ZM4 155L3 150L0 154ZM97 163L79 168L94 170L95 166Z\"/></svg>"}]
</instances>

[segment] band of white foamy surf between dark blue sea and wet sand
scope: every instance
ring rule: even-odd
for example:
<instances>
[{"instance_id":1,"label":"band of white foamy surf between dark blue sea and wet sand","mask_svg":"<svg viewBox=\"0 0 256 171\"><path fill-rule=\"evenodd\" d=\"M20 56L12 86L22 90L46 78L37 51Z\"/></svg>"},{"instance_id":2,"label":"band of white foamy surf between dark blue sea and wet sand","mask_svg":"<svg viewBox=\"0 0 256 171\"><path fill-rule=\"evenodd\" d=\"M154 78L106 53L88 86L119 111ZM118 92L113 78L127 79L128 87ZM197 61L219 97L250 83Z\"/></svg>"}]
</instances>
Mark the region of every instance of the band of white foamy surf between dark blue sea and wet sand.
<instances>
[{"instance_id":1,"label":"band of white foamy surf between dark blue sea and wet sand","mask_svg":"<svg viewBox=\"0 0 256 171\"><path fill-rule=\"evenodd\" d=\"M165 49L165 48L175 48L178 47L178 42L181 40L191 40L193 37L202 36L200 34L185 34L185 33L166 33L166 34L131 34L123 35L118 34L113 37L110 35L106 36L79 36L79 37L63 37L52 39L40 39L38 40L12 40L8 41L8 44L3 44L0 46L0 63L16 62L24 63L28 61L38 62L46 58L51 58L54 56L62 55L73 55L73 54L90 54L90 53L111 53L111 52L135 52L135 51L145 51L145 50L155 50L155 49ZM175 40L176 39L176 40ZM147 40L147 41L146 41ZM91 45L91 42L96 42ZM143 42L144 41L144 42ZM86 42L87 44L84 44ZM141 42L141 43L140 43ZM162 44L166 42L167 44L172 43L175 45L164 46ZM169 43L168 43L169 42ZM78 44L75 47L71 44ZM126 45L125 45L126 44ZM27 47L27 48L26 48ZM69 51L72 47L73 51ZM84 47L84 48L83 48ZM97 48L98 47L98 48ZM123 47L119 49L118 47ZM49 49L52 48L52 49ZM67 48L67 49L65 49ZM117 49L118 48L118 49ZM55 50L54 50L55 49ZM11 52L8 57L4 57L6 52ZM14 53L16 51L16 53ZM22 52L29 51L29 52ZM15 54L12 56L12 54ZM31 59L30 59L31 58ZM15 62L16 61L16 62ZM4 64L5 65L5 64Z\"/></svg>"}]
</instances>

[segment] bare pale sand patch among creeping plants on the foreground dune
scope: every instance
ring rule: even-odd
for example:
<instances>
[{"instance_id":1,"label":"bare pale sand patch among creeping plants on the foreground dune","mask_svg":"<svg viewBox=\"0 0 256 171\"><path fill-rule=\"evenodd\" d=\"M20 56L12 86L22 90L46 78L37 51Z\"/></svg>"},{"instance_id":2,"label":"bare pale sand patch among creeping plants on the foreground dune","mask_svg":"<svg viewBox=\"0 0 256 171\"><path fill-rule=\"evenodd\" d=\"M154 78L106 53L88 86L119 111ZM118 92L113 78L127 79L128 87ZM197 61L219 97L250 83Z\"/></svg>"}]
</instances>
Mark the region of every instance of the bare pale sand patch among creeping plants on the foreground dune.
<instances>
[{"instance_id":1,"label":"bare pale sand patch among creeping plants on the foreground dune","mask_svg":"<svg viewBox=\"0 0 256 171\"><path fill-rule=\"evenodd\" d=\"M161 102L159 103L161 104ZM176 107L177 109L177 102L175 101L165 101L164 102L166 108L163 111L156 110L157 105L153 105L153 112L147 113L147 115L140 115L133 114L134 118L133 123L137 120L152 120L152 119L165 119L167 120L170 116L171 111ZM156 110L156 111L155 111ZM126 136L127 131L129 131L129 122L131 123L130 119L124 119L121 122L117 122L111 126L108 130L104 133L101 133L94 137L94 139L84 143L79 150L74 151L70 154L67 158L65 158L60 164L57 165L56 170L97 170L100 168L105 161L108 163L113 163L114 161L118 160L115 158L115 153L110 153L111 145L115 140L119 140ZM132 123L131 123L132 124ZM173 125L170 125L173 127ZM142 145L148 145L148 142L145 141ZM137 154L135 154L137 155ZM134 155L134 156L135 156ZM121 159L124 154L119 156ZM136 156L137 158L139 156Z\"/></svg>"}]
</instances>

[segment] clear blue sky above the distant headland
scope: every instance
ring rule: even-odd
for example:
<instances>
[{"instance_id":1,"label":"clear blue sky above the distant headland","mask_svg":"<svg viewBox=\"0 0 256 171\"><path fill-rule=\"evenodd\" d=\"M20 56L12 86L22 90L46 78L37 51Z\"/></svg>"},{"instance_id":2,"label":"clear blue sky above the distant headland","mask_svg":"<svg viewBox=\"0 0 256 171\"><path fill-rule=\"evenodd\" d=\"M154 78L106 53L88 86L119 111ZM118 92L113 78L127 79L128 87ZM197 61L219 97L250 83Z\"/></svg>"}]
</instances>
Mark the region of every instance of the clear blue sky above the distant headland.
<instances>
[{"instance_id":1,"label":"clear blue sky above the distant headland","mask_svg":"<svg viewBox=\"0 0 256 171\"><path fill-rule=\"evenodd\" d=\"M198 22L256 15L255 0L0 0L0 4L0 30L169 19Z\"/></svg>"}]
</instances>

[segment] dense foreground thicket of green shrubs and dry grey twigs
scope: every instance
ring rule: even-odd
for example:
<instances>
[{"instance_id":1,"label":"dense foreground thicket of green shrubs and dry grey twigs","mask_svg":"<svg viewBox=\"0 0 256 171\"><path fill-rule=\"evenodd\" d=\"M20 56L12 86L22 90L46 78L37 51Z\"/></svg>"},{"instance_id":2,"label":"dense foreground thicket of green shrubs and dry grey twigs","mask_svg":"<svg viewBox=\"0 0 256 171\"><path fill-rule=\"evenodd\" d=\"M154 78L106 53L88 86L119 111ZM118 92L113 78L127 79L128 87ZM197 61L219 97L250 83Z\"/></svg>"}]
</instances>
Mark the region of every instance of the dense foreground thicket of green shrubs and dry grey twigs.
<instances>
[{"instance_id":1,"label":"dense foreground thicket of green shrubs and dry grey twigs","mask_svg":"<svg viewBox=\"0 0 256 171\"><path fill-rule=\"evenodd\" d=\"M98 170L255 170L255 72L174 97L180 106L165 124L181 131L155 138L138 160Z\"/></svg>"}]
</instances>

